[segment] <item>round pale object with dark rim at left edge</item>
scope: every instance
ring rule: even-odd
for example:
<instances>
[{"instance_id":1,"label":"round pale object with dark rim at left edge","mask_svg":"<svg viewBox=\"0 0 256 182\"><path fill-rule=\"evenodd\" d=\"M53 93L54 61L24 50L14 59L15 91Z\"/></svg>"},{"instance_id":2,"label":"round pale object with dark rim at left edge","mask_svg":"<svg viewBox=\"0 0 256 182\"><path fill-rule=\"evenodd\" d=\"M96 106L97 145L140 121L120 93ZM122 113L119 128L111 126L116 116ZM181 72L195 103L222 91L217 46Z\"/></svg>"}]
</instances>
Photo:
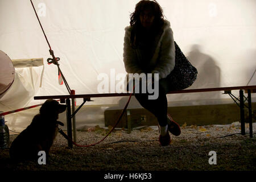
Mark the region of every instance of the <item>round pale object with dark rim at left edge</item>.
<instances>
[{"instance_id":1,"label":"round pale object with dark rim at left edge","mask_svg":"<svg viewBox=\"0 0 256 182\"><path fill-rule=\"evenodd\" d=\"M5 52L0 50L0 95L13 84L15 69L13 62Z\"/></svg>"}]
</instances>

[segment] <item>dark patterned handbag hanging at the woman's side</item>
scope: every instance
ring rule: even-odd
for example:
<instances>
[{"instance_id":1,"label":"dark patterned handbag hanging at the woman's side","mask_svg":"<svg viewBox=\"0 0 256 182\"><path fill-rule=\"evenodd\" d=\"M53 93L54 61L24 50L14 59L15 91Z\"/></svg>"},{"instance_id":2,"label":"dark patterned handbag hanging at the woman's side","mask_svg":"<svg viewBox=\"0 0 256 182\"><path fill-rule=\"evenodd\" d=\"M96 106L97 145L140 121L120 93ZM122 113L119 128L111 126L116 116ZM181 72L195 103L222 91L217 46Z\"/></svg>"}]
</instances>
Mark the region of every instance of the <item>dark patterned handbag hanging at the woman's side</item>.
<instances>
[{"instance_id":1,"label":"dark patterned handbag hanging at the woman's side","mask_svg":"<svg viewBox=\"0 0 256 182\"><path fill-rule=\"evenodd\" d=\"M179 46L175 44L175 67L167 76L168 81L175 90L188 88L197 78L197 69L192 66L187 57L181 52Z\"/></svg>"}]
</instances>

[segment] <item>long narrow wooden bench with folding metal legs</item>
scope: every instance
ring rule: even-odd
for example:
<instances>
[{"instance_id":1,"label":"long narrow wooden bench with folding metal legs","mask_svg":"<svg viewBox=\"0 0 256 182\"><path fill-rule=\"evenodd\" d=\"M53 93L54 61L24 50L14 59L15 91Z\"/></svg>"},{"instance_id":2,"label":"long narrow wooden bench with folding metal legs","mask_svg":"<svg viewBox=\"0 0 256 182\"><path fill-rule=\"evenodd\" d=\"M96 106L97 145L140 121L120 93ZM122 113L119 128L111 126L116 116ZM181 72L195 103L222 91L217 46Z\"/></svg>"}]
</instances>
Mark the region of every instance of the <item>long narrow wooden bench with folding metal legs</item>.
<instances>
[{"instance_id":1,"label":"long narrow wooden bench with folding metal legs","mask_svg":"<svg viewBox=\"0 0 256 182\"><path fill-rule=\"evenodd\" d=\"M232 94L232 90L240 90L240 96L237 98ZM177 93L197 93L197 92L217 92L224 91L224 94L229 94L229 96L233 99L234 102L240 107L240 117L241 117L241 134L245 135L245 107L249 109L249 133L250 138L253 137L253 124L252 124L252 110L251 110L251 93L255 93L256 85L252 86L233 86L233 87L222 87L222 88L203 88L203 89L185 89L185 90L177 90L171 91L168 94L177 94ZM247 97L244 95L247 93ZM35 96L35 100L47 100L47 99L57 99L60 100L61 103L65 103L67 105L67 130L68 137L72 138L72 122L71 119L75 116L77 111L85 104L86 101L92 101L90 98L95 97L121 97L121 96L130 96L130 93L106 93L106 94L78 94L78 95L62 95L62 96ZM72 98L83 98L84 101L82 104L71 113L71 101ZM247 105L245 102L247 101ZM68 146L73 147L71 141L68 141Z\"/></svg>"}]
</instances>

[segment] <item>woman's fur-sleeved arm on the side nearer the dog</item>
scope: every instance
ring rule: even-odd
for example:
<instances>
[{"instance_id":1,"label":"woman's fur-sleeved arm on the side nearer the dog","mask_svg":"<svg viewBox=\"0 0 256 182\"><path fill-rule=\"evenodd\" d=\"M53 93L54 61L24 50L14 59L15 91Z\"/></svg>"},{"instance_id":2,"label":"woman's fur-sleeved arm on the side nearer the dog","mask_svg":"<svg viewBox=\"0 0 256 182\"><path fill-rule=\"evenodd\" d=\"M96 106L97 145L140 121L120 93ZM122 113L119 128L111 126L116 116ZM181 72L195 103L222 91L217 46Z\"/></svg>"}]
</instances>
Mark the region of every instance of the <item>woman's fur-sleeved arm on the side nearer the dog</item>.
<instances>
[{"instance_id":1,"label":"woman's fur-sleeved arm on the side nearer the dog","mask_svg":"<svg viewBox=\"0 0 256 182\"><path fill-rule=\"evenodd\" d=\"M131 27L125 28L125 38L123 43L123 62L125 63L125 70L127 73L142 73L139 68L137 55L130 45Z\"/></svg>"}]
</instances>

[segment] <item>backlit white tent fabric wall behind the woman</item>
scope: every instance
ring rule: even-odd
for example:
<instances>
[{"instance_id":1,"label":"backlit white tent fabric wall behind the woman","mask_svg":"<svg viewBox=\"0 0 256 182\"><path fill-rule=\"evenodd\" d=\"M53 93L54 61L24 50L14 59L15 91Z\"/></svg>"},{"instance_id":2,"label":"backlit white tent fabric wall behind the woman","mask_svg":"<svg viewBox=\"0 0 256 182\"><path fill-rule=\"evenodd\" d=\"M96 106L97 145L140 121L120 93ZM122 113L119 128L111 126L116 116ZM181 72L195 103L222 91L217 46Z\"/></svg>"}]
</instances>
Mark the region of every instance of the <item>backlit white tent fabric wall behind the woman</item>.
<instances>
[{"instance_id":1,"label":"backlit white tent fabric wall behind the woman","mask_svg":"<svg viewBox=\"0 0 256 182\"><path fill-rule=\"evenodd\" d=\"M71 89L76 94L98 93L97 79L103 73L111 77L125 75L123 65L124 28L129 25L129 15L138 0L34 0L36 11L56 57L60 57L60 68ZM198 79L191 88L256 85L255 76L249 82L256 68L256 32L254 0L159 0L166 19L171 22L174 39L191 63L199 71ZM68 94L64 85L59 85L57 67L46 60L49 47L40 29L30 1L0 1L0 49L11 59L44 58L42 87L40 79L31 82L28 71L39 78L42 68L16 69L23 73L23 88L27 84L33 89L17 102L20 107L40 104L34 96ZM20 68L19 68L20 69ZM39 69L39 70L37 70ZM26 77L26 76L28 77ZM113 82L115 80L115 83ZM117 78L112 84L117 85ZM116 92L115 89L109 93ZM11 89L11 88L10 88ZM15 89L15 92L17 90ZM123 91L125 91L123 89ZM10 91L11 92L11 91ZM15 96L14 92L14 96ZM236 94L238 92L234 92ZM18 97L18 96L17 96ZM93 98L77 113L77 127L85 124L104 125L104 110L125 106L127 97ZM255 96L253 95L253 101ZM82 100L77 99L77 104ZM221 92L170 94L169 106L232 103L229 96ZM129 108L141 107L133 98ZM5 107L0 110L7 111ZM33 109L32 109L33 110ZM20 112L26 117L9 119L13 129L23 129L38 111ZM31 112L31 113L30 113ZM15 115L15 114L14 114ZM20 114L22 115L22 114ZM65 115L62 114L63 119ZM22 118L22 120L17 119ZM15 121L14 121L15 120Z\"/></svg>"}]
</instances>

